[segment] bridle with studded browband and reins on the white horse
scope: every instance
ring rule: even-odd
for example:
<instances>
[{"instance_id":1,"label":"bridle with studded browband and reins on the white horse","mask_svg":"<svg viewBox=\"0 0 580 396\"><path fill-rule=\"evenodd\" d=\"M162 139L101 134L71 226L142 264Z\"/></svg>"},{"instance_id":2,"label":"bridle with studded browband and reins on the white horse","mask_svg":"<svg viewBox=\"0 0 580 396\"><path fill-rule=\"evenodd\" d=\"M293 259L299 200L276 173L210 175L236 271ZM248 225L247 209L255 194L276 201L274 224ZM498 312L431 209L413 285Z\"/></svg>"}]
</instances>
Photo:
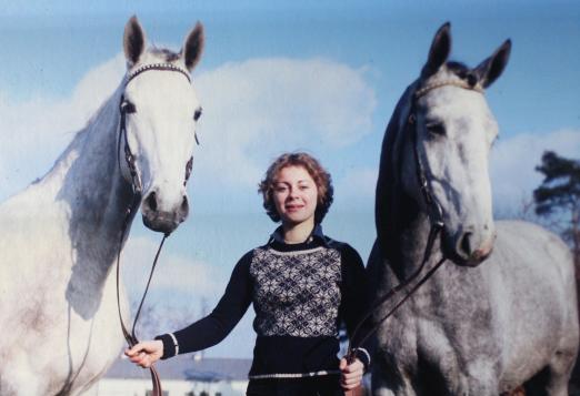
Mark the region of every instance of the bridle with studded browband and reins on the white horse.
<instances>
[{"instance_id":1,"label":"bridle with studded browband and reins on the white horse","mask_svg":"<svg viewBox=\"0 0 580 396\"><path fill-rule=\"evenodd\" d=\"M191 83L191 78L184 69L182 69L176 64L172 64L172 63L152 63L152 64L144 64L144 65L136 69L131 73L127 74L124 82L123 82L124 87L127 88L129 82L132 79L134 79L136 77L138 77L139 74L150 71L150 70L163 70L163 71L178 72L178 73L183 74L188 79L188 82ZM121 331L123 333L124 339L127 341L129 346L132 347L139 343L139 339L136 336L137 321L139 319L139 315L141 313L141 308L143 306L143 303L144 303L144 299L147 296L147 292L149 291L149 285L151 283L151 278L153 276L153 272L156 270L157 262L158 262L159 255L161 253L161 248L163 247L163 243L166 242L166 238L169 236L169 233L163 234L161 243L159 244L159 247L157 250L157 253L156 253L156 256L153 260L153 264L151 265L151 271L149 273L149 278L147 281L146 290L141 297L141 302L139 303L139 308L137 309L131 332L129 333L129 331L127 329L127 327L124 325L124 321L123 321L122 313L121 313L121 302L120 302L121 299L120 299L120 292L119 292L120 291L120 287L119 287L120 261L121 261L121 248L123 245L123 241L127 236L127 230L129 229L131 219L133 217L134 213L137 212L137 209L139 207L139 203L141 202L142 184L141 184L141 177L139 176L139 172L137 171L134 155L131 153L131 149L129 148L129 142L127 139L127 114L134 112L134 105L130 102L127 102L124 100L124 95L121 95L121 100L119 103L119 112L120 112L120 122L119 122L119 136L118 136L118 144L117 144L117 160L118 160L119 169L122 174L121 143L123 143L124 161L126 161L127 167L129 170L129 176L130 176L130 182L131 182L131 202L124 211L124 221L121 226L121 237L119 241L119 248L117 251L117 307L119 311L119 321L121 324ZM196 135L196 142L199 144L197 135ZM193 156L191 156L189 159L189 161L186 165L186 177L183 181L183 185L187 184L189 176L191 175L192 164L193 164ZM149 370L151 373L151 382L153 385L151 395L152 396L162 396L161 380L159 379L159 374L158 374L156 367L153 365L151 365L149 367Z\"/></svg>"}]
</instances>

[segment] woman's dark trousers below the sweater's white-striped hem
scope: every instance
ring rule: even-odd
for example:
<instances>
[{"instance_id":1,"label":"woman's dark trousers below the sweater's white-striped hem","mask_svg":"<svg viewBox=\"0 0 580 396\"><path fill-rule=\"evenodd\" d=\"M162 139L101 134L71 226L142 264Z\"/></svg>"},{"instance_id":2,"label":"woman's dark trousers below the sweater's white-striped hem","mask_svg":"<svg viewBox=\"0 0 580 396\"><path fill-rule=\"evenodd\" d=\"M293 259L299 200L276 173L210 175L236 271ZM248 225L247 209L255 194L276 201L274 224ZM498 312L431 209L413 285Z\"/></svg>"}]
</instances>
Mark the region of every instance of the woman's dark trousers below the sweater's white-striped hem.
<instances>
[{"instance_id":1,"label":"woman's dark trousers below the sweater's white-striped hem","mask_svg":"<svg viewBox=\"0 0 580 396\"><path fill-rule=\"evenodd\" d=\"M250 379L247 396L343 396L338 375Z\"/></svg>"}]
</instances>

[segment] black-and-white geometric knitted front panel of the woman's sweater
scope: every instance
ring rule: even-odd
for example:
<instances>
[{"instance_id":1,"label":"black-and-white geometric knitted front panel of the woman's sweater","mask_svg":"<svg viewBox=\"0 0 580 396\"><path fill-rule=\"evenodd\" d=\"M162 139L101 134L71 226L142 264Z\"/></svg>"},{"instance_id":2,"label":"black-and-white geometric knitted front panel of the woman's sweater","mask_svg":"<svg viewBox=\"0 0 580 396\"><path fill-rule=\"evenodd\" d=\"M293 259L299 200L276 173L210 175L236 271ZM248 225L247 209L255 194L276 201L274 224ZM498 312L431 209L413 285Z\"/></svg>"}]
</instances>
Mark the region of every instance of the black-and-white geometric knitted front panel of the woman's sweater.
<instances>
[{"instance_id":1,"label":"black-and-white geometric knitted front panel of the woman's sweater","mask_svg":"<svg viewBox=\"0 0 580 396\"><path fill-rule=\"evenodd\" d=\"M261 336L318 337L338 335L341 299L341 255L316 247L279 252L253 251L254 329Z\"/></svg>"}]
</instances>

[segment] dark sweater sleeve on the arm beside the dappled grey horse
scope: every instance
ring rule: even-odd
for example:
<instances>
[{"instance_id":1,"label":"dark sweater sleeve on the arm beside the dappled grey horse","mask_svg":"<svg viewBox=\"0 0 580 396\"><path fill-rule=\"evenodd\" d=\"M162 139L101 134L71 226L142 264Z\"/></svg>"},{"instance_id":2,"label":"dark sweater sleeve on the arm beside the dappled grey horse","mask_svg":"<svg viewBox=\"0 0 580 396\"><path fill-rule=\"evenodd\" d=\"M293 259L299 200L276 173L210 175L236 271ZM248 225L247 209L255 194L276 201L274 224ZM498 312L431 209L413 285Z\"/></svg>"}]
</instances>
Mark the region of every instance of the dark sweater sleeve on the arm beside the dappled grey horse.
<instances>
[{"instance_id":1,"label":"dark sweater sleeve on the arm beside the dappled grey horse","mask_svg":"<svg viewBox=\"0 0 580 396\"><path fill-rule=\"evenodd\" d=\"M342 299L340 314L347 326L347 333L352 345L357 346L356 356L364 364L368 369L373 352L371 341L359 345L361 337L364 337L368 325L361 326L354 335L353 332L369 308L367 275L364 265L359 253L350 245L344 244L342 250ZM354 336L354 339L352 338Z\"/></svg>"}]
</instances>

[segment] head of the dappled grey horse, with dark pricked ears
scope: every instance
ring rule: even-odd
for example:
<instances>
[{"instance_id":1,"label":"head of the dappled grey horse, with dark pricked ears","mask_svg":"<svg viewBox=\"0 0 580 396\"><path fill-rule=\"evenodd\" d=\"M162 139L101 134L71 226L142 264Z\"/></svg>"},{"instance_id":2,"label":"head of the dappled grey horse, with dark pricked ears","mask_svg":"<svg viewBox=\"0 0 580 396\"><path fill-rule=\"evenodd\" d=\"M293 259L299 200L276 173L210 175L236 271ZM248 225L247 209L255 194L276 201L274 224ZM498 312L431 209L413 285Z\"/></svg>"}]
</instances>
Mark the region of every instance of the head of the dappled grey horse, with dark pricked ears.
<instances>
[{"instance_id":1,"label":"head of the dappled grey horse, with dark pricked ears","mask_svg":"<svg viewBox=\"0 0 580 396\"><path fill-rule=\"evenodd\" d=\"M433 38L409 99L403 123L412 148L402 165L414 177L402 177L402 184L431 222L442 222L447 256L474 266L491 253L496 237L488 156L498 124L483 90L502 73L511 42L474 69L448 61L450 49L446 23Z\"/></svg>"}]
</instances>

